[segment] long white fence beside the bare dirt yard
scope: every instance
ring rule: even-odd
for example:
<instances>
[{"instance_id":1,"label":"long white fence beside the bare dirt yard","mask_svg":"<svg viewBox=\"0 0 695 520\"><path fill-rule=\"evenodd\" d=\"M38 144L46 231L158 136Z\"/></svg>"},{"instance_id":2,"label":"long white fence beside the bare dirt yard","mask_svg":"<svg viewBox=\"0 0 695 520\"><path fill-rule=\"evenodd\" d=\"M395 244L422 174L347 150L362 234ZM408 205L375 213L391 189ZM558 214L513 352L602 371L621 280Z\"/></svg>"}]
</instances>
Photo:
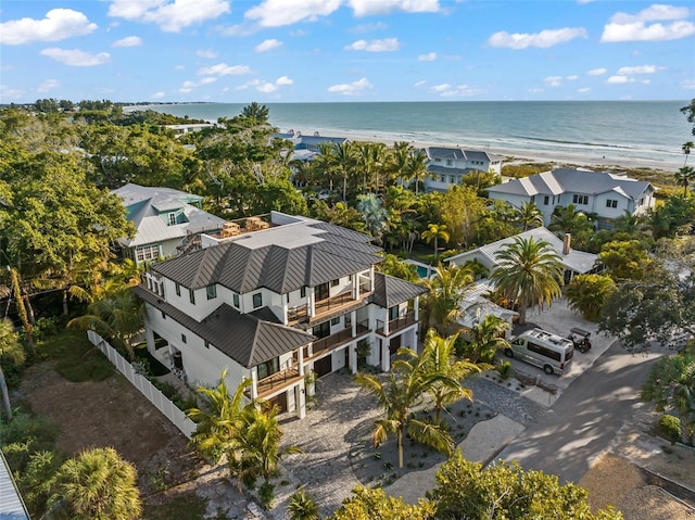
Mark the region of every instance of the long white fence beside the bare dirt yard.
<instances>
[{"instance_id":1,"label":"long white fence beside the bare dirt yard","mask_svg":"<svg viewBox=\"0 0 695 520\"><path fill-rule=\"evenodd\" d=\"M123 373L126 379L150 401L150 403L164 414L166 418L184 433L184 435L188 439L191 437L195 431L195 423L186 417L186 414L172 403L166 395L160 392L160 390L154 386L148 378L136 372L132 365L118 354L116 350L101 335L93 330L88 330L87 337L89 338L89 341L109 358L118 371Z\"/></svg>"}]
</instances>

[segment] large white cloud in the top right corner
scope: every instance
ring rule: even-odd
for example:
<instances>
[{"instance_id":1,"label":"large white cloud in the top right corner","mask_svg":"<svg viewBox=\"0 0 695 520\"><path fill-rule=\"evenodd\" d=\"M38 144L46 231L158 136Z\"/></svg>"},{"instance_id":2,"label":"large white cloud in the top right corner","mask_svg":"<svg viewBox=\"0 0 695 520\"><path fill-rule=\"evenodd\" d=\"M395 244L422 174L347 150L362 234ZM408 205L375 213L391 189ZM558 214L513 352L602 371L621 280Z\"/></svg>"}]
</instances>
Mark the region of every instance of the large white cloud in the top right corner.
<instances>
[{"instance_id":1,"label":"large white cloud in the top right corner","mask_svg":"<svg viewBox=\"0 0 695 520\"><path fill-rule=\"evenodd\" d=\"M695 24L682 20L687 16L690 16L687 8L656 3L637 14L618 12L610 17L610 23L604 26L601 41L615 43L618 41L666 41L686 38L695 34ZM649 23L655 21L675 22Z\"/></svg>"}]
</instances>

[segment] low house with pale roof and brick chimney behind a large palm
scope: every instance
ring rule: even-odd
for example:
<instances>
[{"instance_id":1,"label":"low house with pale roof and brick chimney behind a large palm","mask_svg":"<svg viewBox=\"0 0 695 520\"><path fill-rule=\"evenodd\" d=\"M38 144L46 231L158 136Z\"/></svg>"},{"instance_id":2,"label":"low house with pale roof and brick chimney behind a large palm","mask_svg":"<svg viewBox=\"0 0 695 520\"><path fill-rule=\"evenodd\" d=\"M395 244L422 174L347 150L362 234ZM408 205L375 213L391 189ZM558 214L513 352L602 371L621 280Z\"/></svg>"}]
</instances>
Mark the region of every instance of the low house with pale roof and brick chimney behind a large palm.
<instances>
[{"instance_id":1,"label":"low house with pale roof and brick chimney behind a large palm","mask_svg":"<svg viewBox=\"0 0 695 520\"><path fill-rule=\"evenodd\" d=\"M523 231L515 237L508 237L481 248L450 256L444 262L462 266L468 262L478 261L480 264L485 266L488 272L492 272L497 268L497 252L505 245L513 243L514 239L517 237L520 239L532 238L535 241L544 240L549 243L560 256L560 262L564 266L565 283L569 283L576 275L595 272L598 269L595 265L596 259L598 258L597 255L571 249L571 237L569 234L565 236L565 240L560 240L553 232L543 227L529 229L528 231Z\"/></svg>"}]
</instances>

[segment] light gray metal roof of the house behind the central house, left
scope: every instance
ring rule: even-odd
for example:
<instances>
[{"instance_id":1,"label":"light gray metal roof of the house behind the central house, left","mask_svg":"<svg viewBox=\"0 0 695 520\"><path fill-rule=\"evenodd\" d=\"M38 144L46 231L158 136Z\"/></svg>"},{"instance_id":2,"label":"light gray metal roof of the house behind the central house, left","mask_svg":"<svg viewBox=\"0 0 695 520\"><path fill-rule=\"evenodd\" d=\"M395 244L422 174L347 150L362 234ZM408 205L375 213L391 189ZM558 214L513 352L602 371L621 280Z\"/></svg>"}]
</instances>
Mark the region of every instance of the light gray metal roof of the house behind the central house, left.
<instances>
[{"instance_id":1,"label":"light gray metal roof of the house behind the central house, left","mask_svg":"<svg viewBox=\"0 0 695 520\"><path fill-rule=\"evenodd\" d=\"M166 240L182 239L188 233L199 233L219 229L224 218L216 217L190 203L199 203L202 196L169 188L149 188L128 183L114 190L128 210L128 220L136 228L132 240L122 239L126 248L159 243ZM163 213L181 211L185 219L181 224L168 226Z\"/></svg>"}]
</instances>

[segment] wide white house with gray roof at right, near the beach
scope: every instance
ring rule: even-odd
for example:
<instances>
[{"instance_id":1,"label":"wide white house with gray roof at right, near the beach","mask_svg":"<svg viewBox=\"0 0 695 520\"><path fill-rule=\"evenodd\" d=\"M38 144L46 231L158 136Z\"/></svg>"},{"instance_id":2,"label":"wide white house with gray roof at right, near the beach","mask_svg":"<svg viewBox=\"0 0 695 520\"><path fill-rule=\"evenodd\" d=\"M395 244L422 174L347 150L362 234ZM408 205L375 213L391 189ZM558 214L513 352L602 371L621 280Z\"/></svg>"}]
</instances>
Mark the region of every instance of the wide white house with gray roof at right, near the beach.
<instances>
[{"instance_id":1,"label":"wide white house with gray roof at right, near the beach","mask_svg":"<svg viewBox=\"0 0 695 520\"><path fill-rule=\"evenodd\" d=\"M654 207L655 188L649 182L624 175L587 169L559 168L488 188L490 199L507 201L516 207L534 202L545 226L556 206L574 204L578 211L597 216L599 229L610 229L611 220L624 214L640 215Z\"/></svg>"}]
</instances>

